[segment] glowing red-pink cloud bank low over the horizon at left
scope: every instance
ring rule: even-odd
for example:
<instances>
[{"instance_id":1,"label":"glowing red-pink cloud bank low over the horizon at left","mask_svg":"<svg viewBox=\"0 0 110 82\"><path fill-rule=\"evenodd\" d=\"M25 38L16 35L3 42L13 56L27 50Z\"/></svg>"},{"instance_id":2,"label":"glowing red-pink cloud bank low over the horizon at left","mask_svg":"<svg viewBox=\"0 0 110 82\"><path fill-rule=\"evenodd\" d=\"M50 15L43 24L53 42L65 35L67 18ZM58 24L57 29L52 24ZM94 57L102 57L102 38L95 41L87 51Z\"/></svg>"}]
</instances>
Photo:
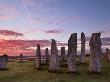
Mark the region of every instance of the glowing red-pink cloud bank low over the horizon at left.
<instances>
[{"instance_id":1,"label":"glowing red-pink cloud bank low over the horizon at left","mask_svg":"<svg viewBox=\"0 0 110 82\"><path fill-rule=\"evenodd\" d=\"M24 55L32 55L35 52L37 44L41 47L48 46L49 40L0 40L0 54L17 55L23 53ZM34 54L33 54L34 55Z\"/></svg>"}]
</instances>

